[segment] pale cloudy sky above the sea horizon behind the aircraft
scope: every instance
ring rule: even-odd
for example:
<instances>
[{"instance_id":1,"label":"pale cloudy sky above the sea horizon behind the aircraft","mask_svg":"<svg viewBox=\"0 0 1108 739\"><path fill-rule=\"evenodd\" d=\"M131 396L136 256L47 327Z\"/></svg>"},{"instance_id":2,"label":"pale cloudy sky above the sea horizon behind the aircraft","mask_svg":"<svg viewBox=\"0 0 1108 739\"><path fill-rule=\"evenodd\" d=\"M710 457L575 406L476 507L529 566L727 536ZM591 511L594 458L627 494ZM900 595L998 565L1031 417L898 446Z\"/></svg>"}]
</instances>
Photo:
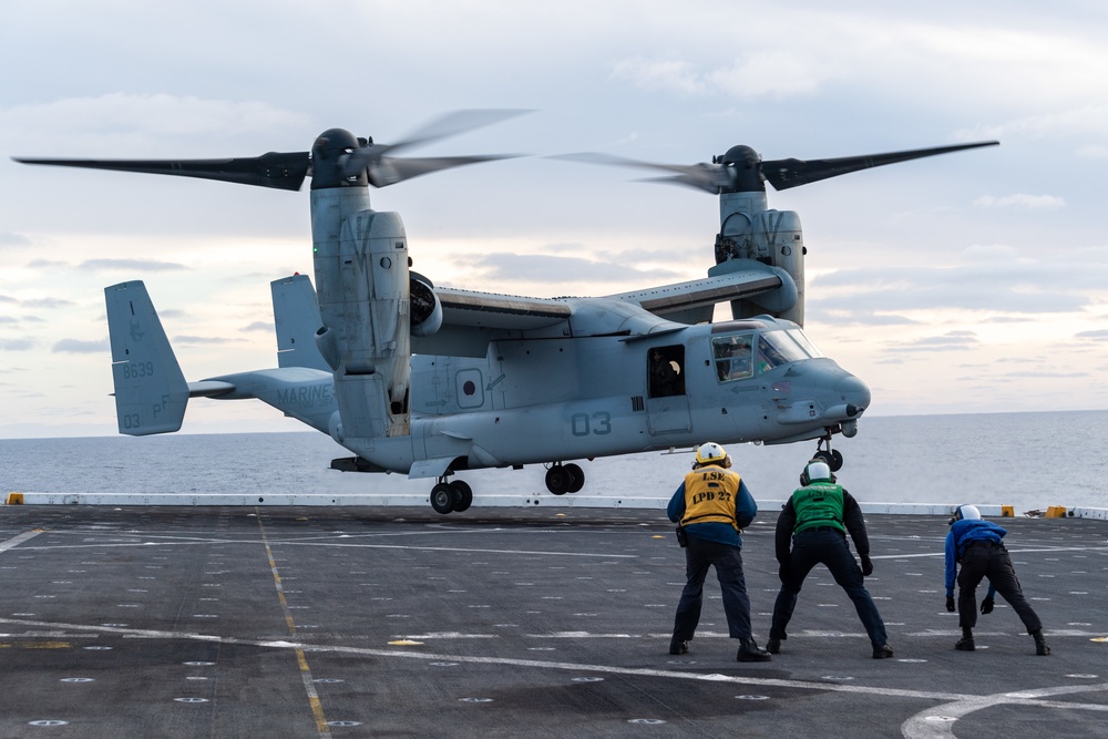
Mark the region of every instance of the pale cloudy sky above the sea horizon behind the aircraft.
<instances>
[{"instance_id":1,"label":"pale cloudy sky above the sea horizon behind the aircraft","mask_svg":"<svg viewBox=\"0 0 1108 739\"><path fill-rule=\"evenodd\" d=\"M523 154L373 191L437 285L607 295L702 277L717 199L602 152L823 158L998 140L781 193L806 330L870 414L1108 408L1108 6L1097 0L0 1L0 438L116 432L103 288L143 279L189 380L276 366L308 189L31 167L378 143ZM186 432L296 431L194 400Z\"/></svg>"}]
</instances>

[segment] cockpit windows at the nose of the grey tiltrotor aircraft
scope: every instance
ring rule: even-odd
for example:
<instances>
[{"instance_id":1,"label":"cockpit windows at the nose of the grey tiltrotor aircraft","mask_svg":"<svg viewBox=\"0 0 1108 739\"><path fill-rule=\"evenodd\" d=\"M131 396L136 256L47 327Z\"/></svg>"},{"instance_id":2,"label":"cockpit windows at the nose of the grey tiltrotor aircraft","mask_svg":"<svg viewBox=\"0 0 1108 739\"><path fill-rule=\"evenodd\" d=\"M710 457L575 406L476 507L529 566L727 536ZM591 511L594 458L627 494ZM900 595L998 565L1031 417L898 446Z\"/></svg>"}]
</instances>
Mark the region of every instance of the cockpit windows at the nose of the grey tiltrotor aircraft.
<instances>
[{"instance_id":1,"label":"cockpit windows at the nose of the grey tiltrotor aircraft","mask_svg":"<svg viewBox=\"0 0 1108 739\"><path fill-rule=\"evenodd\" d=\"M781 365L823 357L803 330L790 326L777 328L759 320L716 325L711 337L716 379L746 380Z\"/></svg>"}]
</instances>

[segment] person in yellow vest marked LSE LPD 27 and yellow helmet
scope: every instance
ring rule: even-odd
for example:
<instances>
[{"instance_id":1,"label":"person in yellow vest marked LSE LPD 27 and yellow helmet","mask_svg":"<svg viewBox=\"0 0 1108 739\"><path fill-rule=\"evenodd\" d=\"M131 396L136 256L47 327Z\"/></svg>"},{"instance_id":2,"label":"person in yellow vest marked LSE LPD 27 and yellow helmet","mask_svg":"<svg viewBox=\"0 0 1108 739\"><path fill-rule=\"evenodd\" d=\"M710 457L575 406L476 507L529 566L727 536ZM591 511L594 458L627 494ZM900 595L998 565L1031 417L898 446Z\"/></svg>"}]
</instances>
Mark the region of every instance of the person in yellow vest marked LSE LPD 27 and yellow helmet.
<instances>
[{"instance_id":1,"label":"person in yellow vest marked LSE LPD 27 and yellow helmet","mask_svg":"<svg viewBox=\"0 0 1108 739\"><path fill-rule=\"evenodd\" d=\"M728 633L739 640L736 658L740 663L769 661L769 653L755 643L750 632L750 601L740 554L739 532L753 520L758 506L739 473L729 470L730 466L731 458L722 447L715 442L701 444L696 451L693 472L685 475L669 500L666 512L670 521L680 524L677 532L685 547L686 577L669 654L688 653L700 623L704 578L708 567L715 567L724 594Z\"/></svg>"}]
</instances>

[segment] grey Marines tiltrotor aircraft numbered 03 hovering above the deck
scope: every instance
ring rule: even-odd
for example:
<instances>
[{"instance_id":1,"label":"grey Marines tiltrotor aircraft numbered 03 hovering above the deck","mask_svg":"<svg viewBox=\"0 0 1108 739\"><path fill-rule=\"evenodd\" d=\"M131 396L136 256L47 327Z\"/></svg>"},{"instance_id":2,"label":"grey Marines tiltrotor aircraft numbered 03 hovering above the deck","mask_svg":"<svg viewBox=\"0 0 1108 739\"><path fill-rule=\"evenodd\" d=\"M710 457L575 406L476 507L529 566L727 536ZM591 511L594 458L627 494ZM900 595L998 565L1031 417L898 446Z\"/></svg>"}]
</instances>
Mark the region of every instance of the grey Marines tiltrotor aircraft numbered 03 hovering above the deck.
<instances>
[{"instance_id":1,"label":"grey Marines tiltrotor aircraft numbered 03 hovering above the deck","mask_svg":"<svg viewBox=\"0 0 1108 739\"><path fill-rule=\"evenodd\" d=\"M573 155L660 170L664 182L718 195L708 276L593 298L437 287L410 269L400 216L373 211L369 187L503 158L397 154L510 114L453 113L393 145L331 129L311 152L252 158L18 158L291 191L311 177L316 289L302 275L271 284L277 368L186 382L143 283L105 288L120 432L176 431L189 398L257 398L355 454L335 469L434 479L440 513L472 503L470 485L450 479L464 470L544 464L546 486L561 495L584 484L572 460L706 440L814 439L838 470L832 435L858 432L870 390L804 335L800 219L768 208L766 183L786 189L996 144L814 161L762 161L735 146L694 165ZM711 322L724 301L733 319Z\"/></svg>"}]
</instances>

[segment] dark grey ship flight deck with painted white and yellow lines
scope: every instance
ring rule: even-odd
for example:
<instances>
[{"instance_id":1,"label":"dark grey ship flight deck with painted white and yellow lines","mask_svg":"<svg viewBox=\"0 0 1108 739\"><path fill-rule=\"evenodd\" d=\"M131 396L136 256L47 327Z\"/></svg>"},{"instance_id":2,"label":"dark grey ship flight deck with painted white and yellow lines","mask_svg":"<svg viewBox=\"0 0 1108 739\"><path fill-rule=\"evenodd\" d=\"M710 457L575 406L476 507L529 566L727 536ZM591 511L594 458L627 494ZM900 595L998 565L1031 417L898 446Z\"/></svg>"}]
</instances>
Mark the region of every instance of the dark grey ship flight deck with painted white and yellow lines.
<instances>
[{"instance_id":1,"label":"dark grey ship flight deck with painted white and yellow lines","mask_svg":"<svg viewBox=\"0 0 1108 739\"><path fill-rule=\"evenodd\" d=\"M0 737L1108 736L1104 521L1001 522L1048 657L999 598L955 651L946 517L868 514L894 657L817 567L781 654L739 664L712 576L668 654L684 555L658 510L0 514ZM743 533L762 645L774 521Z\"/></svg>"}]
</instances>

